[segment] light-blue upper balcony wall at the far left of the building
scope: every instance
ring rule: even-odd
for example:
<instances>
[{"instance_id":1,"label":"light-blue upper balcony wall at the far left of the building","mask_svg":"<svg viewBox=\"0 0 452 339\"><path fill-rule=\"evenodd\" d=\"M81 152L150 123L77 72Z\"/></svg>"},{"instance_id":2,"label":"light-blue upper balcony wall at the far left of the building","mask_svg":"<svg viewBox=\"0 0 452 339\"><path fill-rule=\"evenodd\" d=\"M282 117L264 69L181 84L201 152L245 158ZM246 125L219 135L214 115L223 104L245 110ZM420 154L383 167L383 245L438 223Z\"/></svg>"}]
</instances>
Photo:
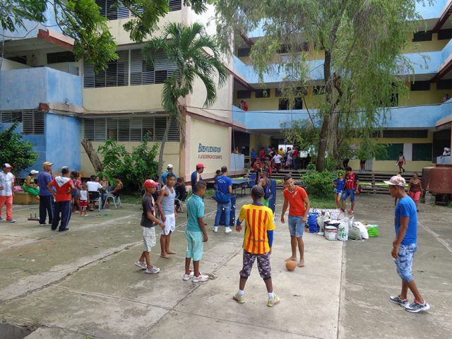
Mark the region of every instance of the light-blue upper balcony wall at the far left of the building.
<instances>
[{"instance_id":1,"label":"light-blue upper balcony wall at the far left of the building","mask_svg":"<svg viewBox=\"0 0 452 339\"><path fill-rule=\"evenodd\" d=\"M0 72L0 109L32 109L40 102L82 106L82 78L37 67Z\"/></svg>"}]
</instances>

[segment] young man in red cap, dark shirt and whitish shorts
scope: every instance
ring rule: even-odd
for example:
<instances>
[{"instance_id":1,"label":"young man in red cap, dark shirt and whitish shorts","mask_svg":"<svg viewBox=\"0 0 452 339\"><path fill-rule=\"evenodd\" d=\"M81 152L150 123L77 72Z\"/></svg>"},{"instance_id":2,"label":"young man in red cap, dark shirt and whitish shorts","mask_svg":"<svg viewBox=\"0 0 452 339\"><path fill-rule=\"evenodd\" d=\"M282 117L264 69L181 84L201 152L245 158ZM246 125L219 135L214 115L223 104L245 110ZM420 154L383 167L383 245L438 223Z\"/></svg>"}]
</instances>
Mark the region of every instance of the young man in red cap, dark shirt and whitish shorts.
<instances>
[{"instance_id":1,"label":"young man in red cap, dark shirt and whitish shorts","mask_svg":"<svg viewBox=\"0 0 452 339\"><path fill-rule=\"evenodd\" d=\"M143 253L141 254L135 265L143 268L145 273L159 273L160 268L150 263L149 252L155 246L155 226L160 225L162 230L165 224L155 217L155 201L153 194L157 188L157 182L148 179L144 182L143 188L143 215L141 215L141 227L143 227Z\"/></svg>"}]
</instances>

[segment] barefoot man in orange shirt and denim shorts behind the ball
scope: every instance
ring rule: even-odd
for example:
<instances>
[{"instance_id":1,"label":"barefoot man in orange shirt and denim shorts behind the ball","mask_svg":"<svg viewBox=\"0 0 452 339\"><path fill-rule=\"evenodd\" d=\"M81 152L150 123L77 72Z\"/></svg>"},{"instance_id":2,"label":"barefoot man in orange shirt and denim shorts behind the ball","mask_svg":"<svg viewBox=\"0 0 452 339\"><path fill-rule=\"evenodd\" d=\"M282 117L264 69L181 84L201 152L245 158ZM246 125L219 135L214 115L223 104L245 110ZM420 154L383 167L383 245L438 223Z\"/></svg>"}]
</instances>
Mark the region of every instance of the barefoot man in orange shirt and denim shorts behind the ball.
<instances>
[{"instance_id":1,"label":"barefoot man in orange shirt and denim shorts behind the ball","mask_svg":"<svg viewBox=\"0 0 452 339\"><path fill-rule=\"evenodd\" d=\"M284 204L283 213L281 213L281 222L285 222L284 215L289 208L289 232L290 232L290 246L292 247L292 256L287 258L289 260L297 260L297 245L299 249L299 267L304 266L304 243L303 243L303 231L304 224L308 220L309 208L311 203L309 202L308 195L304 189L295 185L294 179L287 174L284 177Z\"/></svg>"}]
</instances>

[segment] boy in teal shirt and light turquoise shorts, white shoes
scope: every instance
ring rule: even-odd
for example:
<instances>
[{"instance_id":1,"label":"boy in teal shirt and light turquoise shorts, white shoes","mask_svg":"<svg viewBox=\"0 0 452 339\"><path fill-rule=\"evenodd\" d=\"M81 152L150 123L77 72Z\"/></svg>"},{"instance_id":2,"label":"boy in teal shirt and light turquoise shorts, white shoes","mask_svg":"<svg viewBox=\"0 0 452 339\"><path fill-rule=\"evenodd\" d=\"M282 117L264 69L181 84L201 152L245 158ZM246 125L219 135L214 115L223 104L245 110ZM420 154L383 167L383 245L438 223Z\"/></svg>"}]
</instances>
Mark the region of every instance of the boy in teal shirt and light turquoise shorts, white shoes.
<instances>
[{"instance_id":1,"label":"boy in teal shirt and light turquoise shorts, white shoes","mask_svg":"<svg viewBox=\"0 0 452 339\"><path fill-rule=\"evenodd\" d=\"M207 242L206 225L204 225L204 201L203 196L206 193L207 185L205 182L196 182L194 194L186 202L186 211L188 220L186 223L186 255L185 255L185 273L183 280L189 280L194 283L202 283L208 280L208 275L199 272L199 261L203 256L203 243ZM191 259L193 258L194 272L190 270Z\"/></svg>"}]
</instances>

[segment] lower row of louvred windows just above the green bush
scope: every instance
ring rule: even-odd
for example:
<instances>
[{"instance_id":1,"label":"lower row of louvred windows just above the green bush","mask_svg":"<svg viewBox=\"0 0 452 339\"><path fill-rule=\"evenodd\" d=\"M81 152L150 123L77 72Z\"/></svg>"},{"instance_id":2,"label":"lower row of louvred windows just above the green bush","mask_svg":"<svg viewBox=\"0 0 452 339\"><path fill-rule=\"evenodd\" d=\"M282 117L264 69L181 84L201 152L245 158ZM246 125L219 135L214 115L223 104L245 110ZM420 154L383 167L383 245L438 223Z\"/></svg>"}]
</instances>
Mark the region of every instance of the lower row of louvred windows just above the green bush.
<instances>
[{"instance_id":1,"label":"lower row of louvred windows just above the green bush","mask_svg":"<svg viewBox=\"0 0 452 339\"><path fill-rule=\"evenodd\" d=\"M149 141L162 141L167 121L168 117L84 119L83 136L90 141L105 141L107 138L117 141L143 141L145 136L149 136ZM179 127L173 121L169 127L168 141L179 139Z\"/></svg>"}]
</instances>

